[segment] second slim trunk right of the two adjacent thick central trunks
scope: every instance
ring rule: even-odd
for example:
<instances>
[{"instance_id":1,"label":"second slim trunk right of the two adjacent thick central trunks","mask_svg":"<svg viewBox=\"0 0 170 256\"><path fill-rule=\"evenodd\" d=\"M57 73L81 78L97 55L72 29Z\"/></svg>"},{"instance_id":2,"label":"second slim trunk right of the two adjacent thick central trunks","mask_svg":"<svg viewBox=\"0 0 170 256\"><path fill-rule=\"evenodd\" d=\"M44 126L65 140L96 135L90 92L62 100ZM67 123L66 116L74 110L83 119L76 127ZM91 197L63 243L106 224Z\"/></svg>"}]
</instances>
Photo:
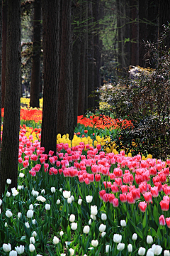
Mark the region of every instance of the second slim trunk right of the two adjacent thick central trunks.
<instances>
[{"instance_id":1,"label":"second slim trunk right of the two adjacent thick central trunks","mask_svg":"<svg viewBox=\"0 0 170 256\"><path fill-rule=\"evenodd\" d=\"M84 114L85 106L85 82L86 82L86 29L84 28L83 21L86 18L86 2L81 0L81 51L80 51L80 69L79 69L79 107L78 115Z\"/></svg>"}]
</instances>

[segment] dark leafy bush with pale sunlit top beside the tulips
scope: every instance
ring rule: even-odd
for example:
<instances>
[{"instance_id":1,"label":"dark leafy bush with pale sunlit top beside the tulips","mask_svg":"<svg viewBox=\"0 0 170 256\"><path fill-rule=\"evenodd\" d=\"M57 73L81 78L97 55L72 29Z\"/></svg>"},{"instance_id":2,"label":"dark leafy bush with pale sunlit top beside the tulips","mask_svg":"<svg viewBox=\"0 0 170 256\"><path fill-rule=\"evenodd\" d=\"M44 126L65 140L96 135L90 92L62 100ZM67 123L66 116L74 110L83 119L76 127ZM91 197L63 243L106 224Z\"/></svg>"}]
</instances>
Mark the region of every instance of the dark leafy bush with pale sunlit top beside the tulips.
<instances>
[{"instance_id":1,"label":"dark leafy bush with pale sunlit top beside the tulips","mask_svg":"<svg viewBox=\"0 0 170 256\"><path fill-rule=\"evenodd\" d=\"M103 100L108 102L115 118L128 119L133 124L119 130L114 139L118 149L125 148L135 154L149 153L162 159L170 152L170 53L164 46L165 37L166 33L155 47L155 70L145 72L140 68L135 80L119 80L118 85L103 92Z\"/></svg>"}]
</instances>

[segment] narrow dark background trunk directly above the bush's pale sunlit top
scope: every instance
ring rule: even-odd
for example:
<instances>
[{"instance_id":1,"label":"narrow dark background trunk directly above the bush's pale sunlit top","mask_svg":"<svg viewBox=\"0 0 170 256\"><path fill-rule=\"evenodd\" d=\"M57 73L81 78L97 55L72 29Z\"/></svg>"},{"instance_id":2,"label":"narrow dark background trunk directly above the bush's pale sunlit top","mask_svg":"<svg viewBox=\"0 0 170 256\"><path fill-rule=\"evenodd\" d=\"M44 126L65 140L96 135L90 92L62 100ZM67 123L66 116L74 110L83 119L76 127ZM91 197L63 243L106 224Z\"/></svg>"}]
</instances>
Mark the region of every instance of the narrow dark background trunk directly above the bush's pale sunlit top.
<instances>
[{"instance_id":1,"label":"narrow dark background trunk directly above the bush's pale sunlit top","mask_svg":"<svg viewBox=\"0 0 170 256\"><path fill-rule=\"evenodd\" d=\"M139 65L146 67L145 62L145 42L147 42L147 6L148 0L139 1L139 27L140 27L140 52L139 52Z\"/></svg>"}]
</instances>

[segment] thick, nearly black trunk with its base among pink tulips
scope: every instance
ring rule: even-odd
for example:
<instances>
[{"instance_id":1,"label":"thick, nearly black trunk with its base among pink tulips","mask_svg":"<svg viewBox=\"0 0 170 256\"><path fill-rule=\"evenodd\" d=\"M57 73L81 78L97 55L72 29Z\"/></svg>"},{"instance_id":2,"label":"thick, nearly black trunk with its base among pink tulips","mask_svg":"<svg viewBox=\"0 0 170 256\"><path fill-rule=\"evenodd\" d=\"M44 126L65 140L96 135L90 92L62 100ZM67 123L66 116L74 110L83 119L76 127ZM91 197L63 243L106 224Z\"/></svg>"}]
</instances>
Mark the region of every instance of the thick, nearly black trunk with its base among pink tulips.
<instances>
[{"instance_id":1,"label":"thick, nearly black trunk with its base among pink tulips","mask_svg":"<svg viewBox=\"0 0 170 256\"><path fill-rule=\"evenodd\" d=\"M60 1L42 0L42 39L44 55L44 95L41 145L45 153L56 152L57 102L60 51Z\"/></svg>"}]
</instances>

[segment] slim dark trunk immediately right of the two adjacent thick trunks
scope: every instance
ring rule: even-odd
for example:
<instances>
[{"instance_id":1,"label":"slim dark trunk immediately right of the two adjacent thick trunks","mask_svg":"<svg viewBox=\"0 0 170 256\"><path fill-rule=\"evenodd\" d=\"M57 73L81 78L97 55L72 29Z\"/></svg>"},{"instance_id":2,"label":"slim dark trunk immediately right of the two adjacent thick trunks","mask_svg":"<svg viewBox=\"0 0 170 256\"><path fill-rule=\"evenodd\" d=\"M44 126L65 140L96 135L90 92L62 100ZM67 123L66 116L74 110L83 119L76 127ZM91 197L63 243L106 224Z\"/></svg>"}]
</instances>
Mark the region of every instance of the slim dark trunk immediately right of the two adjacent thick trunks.
<instances>
[{"instance_id":1,"label":"slim dark trunk immediately right of the two adjacent thick trunks","mask_svg":"<svg viewBox=\"0 0 170 256\"><path fill-rule=\"evenodd\" d=\"M81 19L81 4L75 4L74 10L74 21ZM74 127L77 127L77 115L78 115L78 104L79 104L79 70L80 70L80 28L78 23L74 26L74 43L72 48L72 71L73 71L73 103L74 103Z\"/></svg>"}]
</instances>

